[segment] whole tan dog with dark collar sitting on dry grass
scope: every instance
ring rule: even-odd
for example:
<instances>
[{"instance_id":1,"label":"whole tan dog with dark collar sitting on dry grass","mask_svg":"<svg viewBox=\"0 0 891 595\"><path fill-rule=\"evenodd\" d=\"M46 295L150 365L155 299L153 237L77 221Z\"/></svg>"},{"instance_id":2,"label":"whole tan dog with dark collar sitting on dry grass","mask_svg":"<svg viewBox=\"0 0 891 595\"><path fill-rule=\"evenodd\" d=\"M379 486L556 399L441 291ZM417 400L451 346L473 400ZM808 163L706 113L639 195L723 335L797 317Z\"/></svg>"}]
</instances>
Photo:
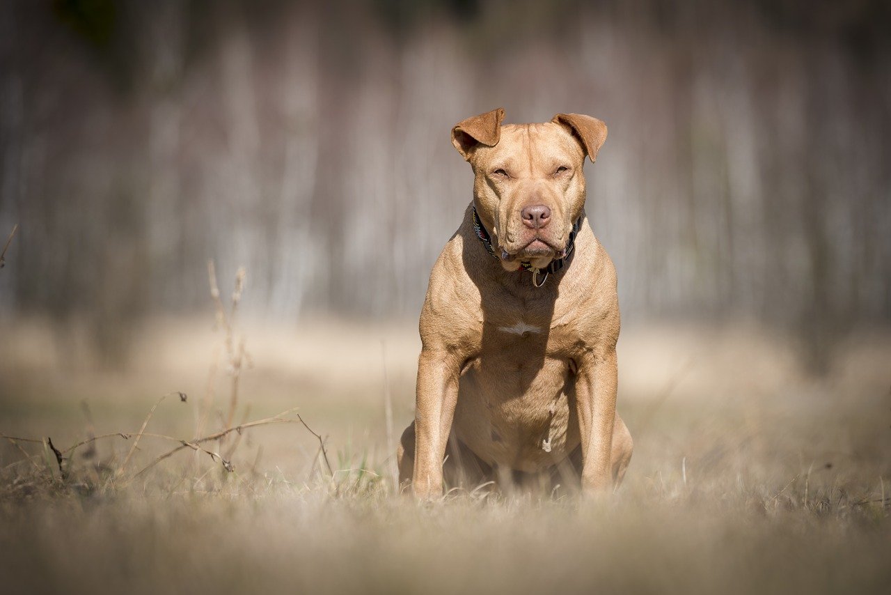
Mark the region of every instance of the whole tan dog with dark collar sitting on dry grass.
<instances>
[{"instance_id":1,"label":"whole tan dog with dark collar sitting on dry grass","mask_svg":"<svg viewBox=\"0 0 891 595\"><path fill-rule=\"evenodd\" d=\"M607 127L503 117L452 129L473 203L430 274L416 413L397 452L400 483L421 499L442 494L444 474L470 488L581 477L584 492L609 490L631 459L616 413L616 270L584 215L584 157Z\"/></svg>"}]
</instances>

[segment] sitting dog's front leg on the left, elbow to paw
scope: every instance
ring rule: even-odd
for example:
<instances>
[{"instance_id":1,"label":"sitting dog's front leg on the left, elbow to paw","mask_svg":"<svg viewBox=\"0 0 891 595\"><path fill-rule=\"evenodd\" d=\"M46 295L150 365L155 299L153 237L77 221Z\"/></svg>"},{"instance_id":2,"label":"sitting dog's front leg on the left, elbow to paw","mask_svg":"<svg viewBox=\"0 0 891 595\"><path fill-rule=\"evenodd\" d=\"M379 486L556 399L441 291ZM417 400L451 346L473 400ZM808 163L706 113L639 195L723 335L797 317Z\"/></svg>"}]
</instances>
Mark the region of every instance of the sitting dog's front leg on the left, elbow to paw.
<instances>
[{"instance_id":1,"label":"sitting dog's front leg on the left, elbow to paw","mask_svg":"<svg viewBox=\"0 0 891 595\"><path fill-rule=\"evenodd\" d=\"M458 402L460 361L446 349L421 350L414 412L414 495L419 500L443 492L443 458Z\"/></svg>"}]
</instances>

